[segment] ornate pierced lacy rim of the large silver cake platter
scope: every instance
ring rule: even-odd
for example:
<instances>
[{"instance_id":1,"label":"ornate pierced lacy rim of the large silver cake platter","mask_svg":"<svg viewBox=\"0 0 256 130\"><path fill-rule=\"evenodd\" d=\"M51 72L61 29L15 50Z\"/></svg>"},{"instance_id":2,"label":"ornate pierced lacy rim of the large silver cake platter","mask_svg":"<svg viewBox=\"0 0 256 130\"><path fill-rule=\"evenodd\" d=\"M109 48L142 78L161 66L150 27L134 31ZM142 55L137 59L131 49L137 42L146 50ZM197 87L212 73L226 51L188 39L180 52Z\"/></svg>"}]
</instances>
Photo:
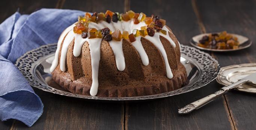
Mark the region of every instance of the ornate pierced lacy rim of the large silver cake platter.
<instances>
[{"instance_id":1,"label":"ornate pierced lacy rim of the large silver cake platter","mask_svg":"<svg viewBox=\"0 0 256 130\"><path fill-rule=\"evenodd\" d=\"M35 88L39 88L43 91L51 92L54 94L65 95L69 97L77 97L77 98L85 98L85 99L94 99L94 100L147 100L147 99L156 99L169 97L172 95L182 94L185 92L189 92L195 90L197 88L201 88L211 81L213 81L219 72L220 66L218 61L212 58L208 53L202 52L196 48L181 45L181 55L190 59L191 62L196 62L196 67L201 70L199 78L196 81L193 81L193 84L188 84L185 87L182 87L178 90L174 90L171 92L165 92L161 94L155 95L146 95L140 97L119 97L119 98L106 98L106 97L95 97L88 95L79 95L71 92L61 91L55 88L52 88L46 82L42 82L35 78L35 74L33 73L34 67L37 62L44 57L49 57L55 53L57 48L57 43L48 44L40 46L37 49L33 49L31 51L26 52L16 61L16 66L21 71L22 75L28 80L31 86Z\"/></svg>"}]
</instances>

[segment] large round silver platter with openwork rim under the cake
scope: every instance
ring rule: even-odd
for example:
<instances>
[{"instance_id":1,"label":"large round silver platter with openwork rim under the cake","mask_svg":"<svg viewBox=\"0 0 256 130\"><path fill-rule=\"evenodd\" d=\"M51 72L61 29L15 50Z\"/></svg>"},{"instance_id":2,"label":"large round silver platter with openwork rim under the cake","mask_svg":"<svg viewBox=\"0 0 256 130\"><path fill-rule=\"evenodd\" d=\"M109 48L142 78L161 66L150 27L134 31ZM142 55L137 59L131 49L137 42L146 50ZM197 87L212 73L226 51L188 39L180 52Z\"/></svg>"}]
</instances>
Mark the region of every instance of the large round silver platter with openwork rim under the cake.
<instances>
[{"instance_id":1,"label":"large round silver platter with openwork rim under the cake","mask_svg":"<svg viewBox=\"0 0 256 130\"><path fill-rule=\"evenodd\" d=\"M51 78L49 68L57 44L48 44L41 46L37 49L28 51L16 61L16 66L28 80L31 86L39 88L41 90L52 92L54 94L65 95L69 97L94 99L94 100L147 100L155 98L169 97L172 95L182 94L195 90L197 88L207 85L213 81L219 72L219 63L210 55L205 52L201 52L196 48L181 45L181 62L185 66L189 83L185 87L171 92L165 92L155 95L147 95L141 97L119 97L119 98L106 98L79 95L64 90Z\"/></svg>"}]
</instances>

